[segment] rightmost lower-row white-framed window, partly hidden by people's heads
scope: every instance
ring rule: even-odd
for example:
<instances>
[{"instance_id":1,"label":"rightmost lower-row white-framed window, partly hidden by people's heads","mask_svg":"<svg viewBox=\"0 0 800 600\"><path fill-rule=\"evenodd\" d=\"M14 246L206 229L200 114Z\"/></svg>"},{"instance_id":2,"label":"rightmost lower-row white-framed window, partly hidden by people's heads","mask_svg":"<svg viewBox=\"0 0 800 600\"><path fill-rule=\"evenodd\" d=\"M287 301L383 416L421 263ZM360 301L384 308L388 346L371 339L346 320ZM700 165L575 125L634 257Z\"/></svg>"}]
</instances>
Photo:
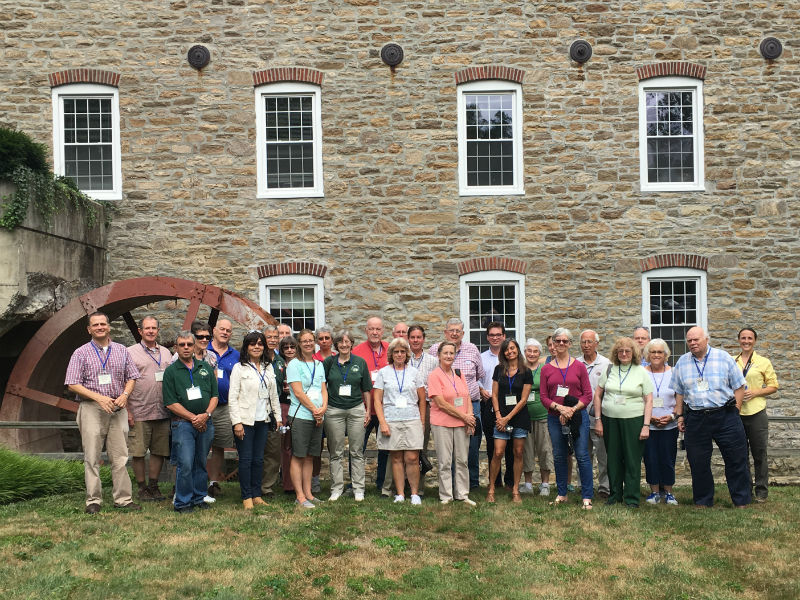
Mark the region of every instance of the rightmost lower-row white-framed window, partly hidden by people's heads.
<instances>
[{"instance_id":1,"label":"rightmost lower-row white-framed window, partly hidden by people's heads","mask_svg":"<svg viewBox=\"0 0 800 600\"><path fill-rule=\"evenodd\" d=\"M700 269L667 268L642 273L642 323L651 338L661 338L670 348L670 364L689 348L686 332L708 327L708 286Z\"/></svg>"}]
</instances>

